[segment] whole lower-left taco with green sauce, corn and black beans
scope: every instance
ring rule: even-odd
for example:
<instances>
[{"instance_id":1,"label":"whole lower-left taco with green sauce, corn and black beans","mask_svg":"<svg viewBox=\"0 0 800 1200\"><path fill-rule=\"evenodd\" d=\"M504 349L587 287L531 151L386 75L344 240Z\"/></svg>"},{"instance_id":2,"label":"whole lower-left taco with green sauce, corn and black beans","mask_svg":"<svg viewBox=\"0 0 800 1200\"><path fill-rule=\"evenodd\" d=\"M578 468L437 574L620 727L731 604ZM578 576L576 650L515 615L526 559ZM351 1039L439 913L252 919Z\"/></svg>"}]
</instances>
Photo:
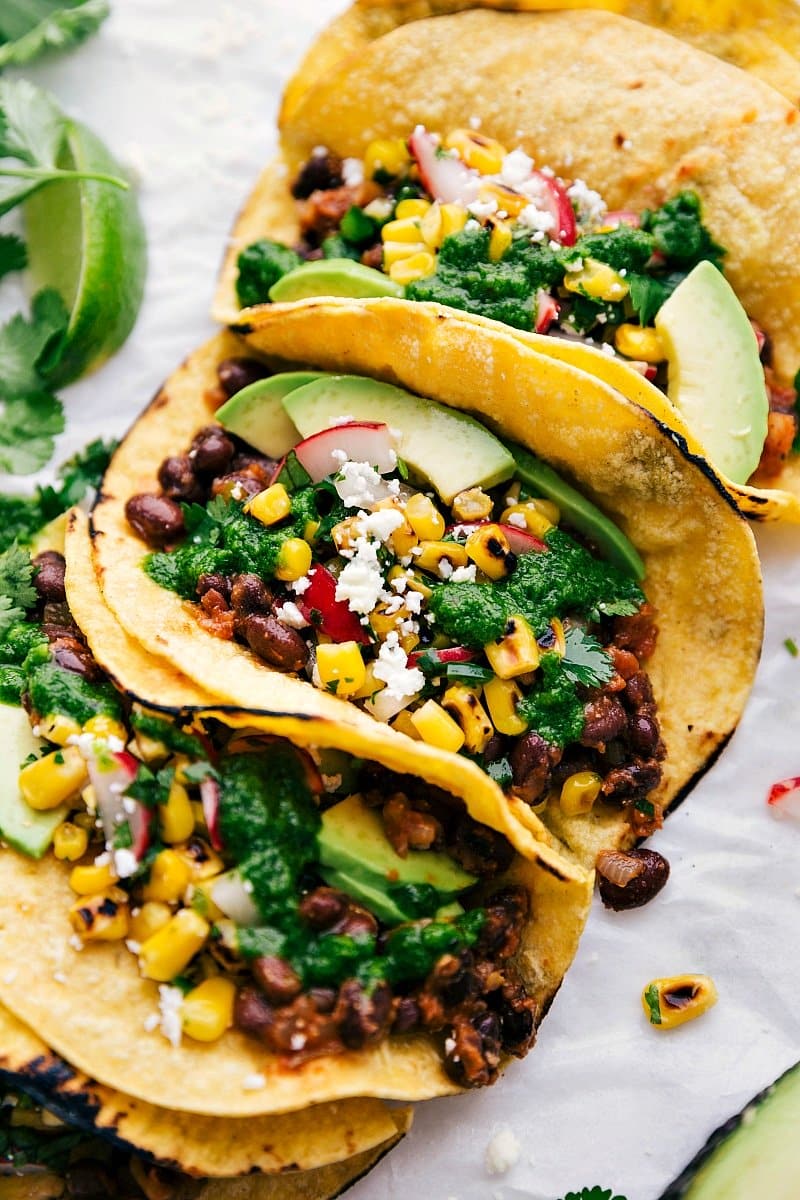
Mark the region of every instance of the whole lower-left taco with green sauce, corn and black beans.
<instances>
[{"instance_id":1,"label":"whole lower-left taco with green sauce, corn and black beans","mask_svg":"<svg viewBox=\"0 0 800 1200\"><path fill-rule=\"evenodd\" d=\"M14 636L29 643L22 688L46 745L2 812L16 847L0 854L2 1003L126 1097L231 1128L247 1118L253 1141L287 1114L309 1153L317 1115L320 1140L337 1145L350 1098L493 1082L533 1044L590 874L489 791L431 786L414 750L367 742L367 761L349 744L366 739L283 712L167 713L174 672L160 677L142 649L126 678L158 686L162 707L120 695L89 649L119 662L127 643L78 523L66 548L60 628L29 598ZM38 565L49 588L52 563ZM78 612L86 640L67 629ZM427 850L390 841L375 804L386 786L397 804L414 798L417 834L435 826ZM387 1116L357 1103L372 1128Z\"/></svg>"}]
</instances>

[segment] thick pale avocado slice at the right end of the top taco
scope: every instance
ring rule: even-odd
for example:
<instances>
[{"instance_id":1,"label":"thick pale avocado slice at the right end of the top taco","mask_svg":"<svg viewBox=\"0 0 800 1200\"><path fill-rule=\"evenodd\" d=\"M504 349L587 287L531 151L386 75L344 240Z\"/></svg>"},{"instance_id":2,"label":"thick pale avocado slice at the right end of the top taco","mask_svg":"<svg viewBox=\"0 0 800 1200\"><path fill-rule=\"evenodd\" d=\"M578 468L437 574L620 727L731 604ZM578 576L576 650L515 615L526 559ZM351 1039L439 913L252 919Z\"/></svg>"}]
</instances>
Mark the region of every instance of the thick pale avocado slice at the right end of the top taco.
<instances>
[{"instance_id":1,"label":"thick pale avocado slice at the right end of the top taco","mask_svg":"<svg viewBox=\"0 0 800 1200\"><path fill-rule=\"evenodd\" d=\"M668 395L717 470L746 484L766 438L769 400L756 334L736 294L703 262L656 314Z\"/></svg>"}]
</instances>

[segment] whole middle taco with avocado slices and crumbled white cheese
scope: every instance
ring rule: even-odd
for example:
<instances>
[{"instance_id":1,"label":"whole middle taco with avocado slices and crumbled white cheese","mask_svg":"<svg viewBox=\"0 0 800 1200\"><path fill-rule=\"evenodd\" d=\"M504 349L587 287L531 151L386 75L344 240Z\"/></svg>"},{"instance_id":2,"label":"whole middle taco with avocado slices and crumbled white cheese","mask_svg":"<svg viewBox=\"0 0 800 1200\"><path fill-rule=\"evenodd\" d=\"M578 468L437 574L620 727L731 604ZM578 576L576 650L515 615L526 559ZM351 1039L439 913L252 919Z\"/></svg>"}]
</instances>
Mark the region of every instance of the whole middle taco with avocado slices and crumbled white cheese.
<instances>
[{"instance_id":1,"label":"whole middle taco with avocado slices and crumbled white cheese","mask_svg":"<svg viewBox=\"0 0 800 1200\"><path fill-rule=\"evenodd\" d=\"M753 540L714 474L597 379L432 306L247 328L251 355L303 370L241 390L225 432L219 380L269 368L215 338L103 480L120 624L290 737L331 722L464 798L541 810L588 866L657 828L735 727L760 644ZM337 367L357 378L320 377Z\"/></svg>"}]
</instances>

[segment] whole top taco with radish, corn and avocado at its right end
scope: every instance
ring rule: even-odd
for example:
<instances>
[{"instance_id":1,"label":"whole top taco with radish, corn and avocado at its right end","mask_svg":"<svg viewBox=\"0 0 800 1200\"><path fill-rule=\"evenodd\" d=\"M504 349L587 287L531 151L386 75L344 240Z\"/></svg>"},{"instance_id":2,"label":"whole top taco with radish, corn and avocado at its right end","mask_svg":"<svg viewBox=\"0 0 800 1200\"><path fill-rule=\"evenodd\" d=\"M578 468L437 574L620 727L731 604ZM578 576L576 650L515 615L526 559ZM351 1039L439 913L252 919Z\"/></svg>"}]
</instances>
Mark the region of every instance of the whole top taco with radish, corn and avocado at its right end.
<instances>
[{"instance_id":1,"label":"whole top taco with radish, corn and avocado at its right end","mask_svg":"<svg viewBox=\"0 0 800 1200\"><path fill-rule=\"evenodd\" d=\"M608 13L416 20L285 121L217 314L393 295L503 322L672 425L748 516L800 521L795 199L775 203L795 118L759 80Z\"/></svg>"}]
</instances>

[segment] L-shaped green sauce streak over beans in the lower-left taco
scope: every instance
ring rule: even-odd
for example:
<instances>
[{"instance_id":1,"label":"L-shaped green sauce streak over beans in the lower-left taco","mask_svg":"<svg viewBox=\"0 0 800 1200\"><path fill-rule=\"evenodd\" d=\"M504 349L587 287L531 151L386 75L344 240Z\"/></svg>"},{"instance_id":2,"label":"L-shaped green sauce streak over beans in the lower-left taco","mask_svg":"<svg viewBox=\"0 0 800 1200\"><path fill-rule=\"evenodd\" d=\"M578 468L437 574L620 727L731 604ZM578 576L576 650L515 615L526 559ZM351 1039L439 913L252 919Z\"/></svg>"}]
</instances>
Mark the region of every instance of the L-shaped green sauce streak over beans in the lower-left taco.
<instances>
[{"instance_id":1,"label":"L-shaped green sauce streak over beans in the lower-left taco","mask_svg":"<svg viewBox=\"0 0 800 1200\"><path fill-rule=\"evenodd\" d=\"M313 872L320 824L302 762L291 748L275 745L267 754L237 755L219 764L221 834L264 918L264 925L237 931L245 958L279 955L307 988L351 977L402 983L425 978L441 954L475 942L482 910L452 922L401 925L381 953L373 936L309 930L297 916L297 899L301 882Z\"/></svg>"}]
</instances>

